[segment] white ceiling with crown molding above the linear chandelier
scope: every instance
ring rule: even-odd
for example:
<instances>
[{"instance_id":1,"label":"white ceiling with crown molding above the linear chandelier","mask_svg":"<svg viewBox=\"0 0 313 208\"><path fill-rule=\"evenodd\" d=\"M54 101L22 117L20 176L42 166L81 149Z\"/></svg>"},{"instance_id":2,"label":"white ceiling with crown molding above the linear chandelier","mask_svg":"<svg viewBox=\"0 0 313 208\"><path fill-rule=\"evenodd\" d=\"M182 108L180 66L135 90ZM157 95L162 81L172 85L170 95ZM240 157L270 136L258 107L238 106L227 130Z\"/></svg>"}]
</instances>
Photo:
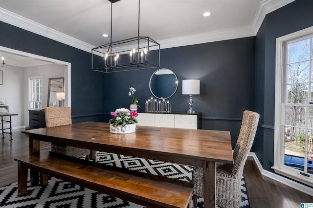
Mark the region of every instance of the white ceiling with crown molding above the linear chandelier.
<instances>
[{"instance_id":1,"label":"white ceiling with crown molding above the linear chandelier","mask_svg":"<svg viewBox=\"0 0 313 208\"><path fill-rule=\"evenodd\" d=\"M255 36L266 14L292 1L141 0L139 34L161 49ZM0 20L88 52L111 39L101 36L111 35L109 0L0 0ZM112 41L137 36L138 0L113 3Z\"/></svg>"}]
</instances>

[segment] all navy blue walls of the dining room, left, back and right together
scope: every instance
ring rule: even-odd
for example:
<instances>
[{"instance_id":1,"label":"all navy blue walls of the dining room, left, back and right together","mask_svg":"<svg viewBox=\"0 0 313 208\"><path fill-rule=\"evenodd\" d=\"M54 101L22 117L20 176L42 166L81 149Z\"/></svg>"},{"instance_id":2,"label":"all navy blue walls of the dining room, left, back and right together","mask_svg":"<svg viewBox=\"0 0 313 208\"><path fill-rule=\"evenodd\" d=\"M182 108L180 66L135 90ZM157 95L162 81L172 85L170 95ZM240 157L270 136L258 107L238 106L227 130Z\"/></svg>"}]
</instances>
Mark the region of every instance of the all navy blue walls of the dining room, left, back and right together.
<instances>
[{"instance_id":1,"label":"all navy blue walls of the dining room, left, back and right together","mask_svg":"<svg viewBox=\"0 0 313 208\"><path fill-rule=\"evenodd\" d=\"M183 79L200 79L201 95L193 109L202 112L202 129L231 131L234 145L244 110L261 114L252 151L272 171L274 140L275 40L313 26L313 1L296 0L264 19L256 37L239 38L161 50L160 68L178 76L179 88L169 100L172 111L188 110L181 95ZM102 74L90 70L90 54L0 22L0 45L71 63L73 121L108 121L110 111L129 108L129 87L144 110L152 94L149 79L156 69ZM153 34L151 35L153 36ZM88 100L88 101L86 101ZM103 116L105 115L105 116Z\"/></svg>"}]
</instances>

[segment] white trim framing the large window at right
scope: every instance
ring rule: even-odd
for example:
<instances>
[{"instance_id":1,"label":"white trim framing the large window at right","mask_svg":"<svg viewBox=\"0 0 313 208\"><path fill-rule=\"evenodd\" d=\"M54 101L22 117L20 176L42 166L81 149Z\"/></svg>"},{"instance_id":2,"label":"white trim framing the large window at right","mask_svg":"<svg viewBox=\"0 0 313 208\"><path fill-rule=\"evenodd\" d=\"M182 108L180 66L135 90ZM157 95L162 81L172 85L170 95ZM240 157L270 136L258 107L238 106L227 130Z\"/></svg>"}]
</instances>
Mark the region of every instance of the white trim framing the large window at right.
<instances>
[{"instance_id":1,"label":"white trim framing the large window at right","mask_svg":"<svg viewBox=\"0 0 313 208\"><path fill-rule=\"evenodd\" d=\"M281 108L281 101L282 101L282 90L283 90L283 44L284 42L290 41L295 38L300 38L301 36L307 36L313 33L313 27L308 27L306 29L291 33L289 35L276 38L276 64L275 64L275 124L274 124L274 165L271 167L276 173L281 175L287 176L291 179L296 181L302 182L304 184L313 186L313 177L306 177L299 173L295 173L292 171L292 168L282 169L284 161L280 155L284 151L282 145L281 135L283 135L284 129L282 128L281 121L282 121L282 108ZM287 170L286 170L287 169ZM310 179L310 180L309 180Z\"/></svg>"}]
</instances>

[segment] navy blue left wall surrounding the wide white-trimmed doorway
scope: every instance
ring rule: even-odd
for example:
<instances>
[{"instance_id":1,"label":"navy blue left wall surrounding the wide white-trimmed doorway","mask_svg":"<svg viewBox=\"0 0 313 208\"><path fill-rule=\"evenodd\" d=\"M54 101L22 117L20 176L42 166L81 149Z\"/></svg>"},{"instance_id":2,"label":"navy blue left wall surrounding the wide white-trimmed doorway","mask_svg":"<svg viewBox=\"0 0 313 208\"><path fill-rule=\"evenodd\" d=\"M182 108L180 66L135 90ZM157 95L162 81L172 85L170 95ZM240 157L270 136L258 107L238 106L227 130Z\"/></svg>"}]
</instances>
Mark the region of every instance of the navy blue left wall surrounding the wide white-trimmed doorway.
<instances>
[{"instance_id":1,"label":"navy blue left wall surrounding the wide white-trimmed doorway","mask_svg":"<svg viewBox=\"0 0 313 208\"><path fill-rule=\"evenodd\" d=\"M71 63L71 109L73 122L103 120L102 74L91 71L91 55L66 44L0 21L0 45Z\"/></svg>"}]
</instances>

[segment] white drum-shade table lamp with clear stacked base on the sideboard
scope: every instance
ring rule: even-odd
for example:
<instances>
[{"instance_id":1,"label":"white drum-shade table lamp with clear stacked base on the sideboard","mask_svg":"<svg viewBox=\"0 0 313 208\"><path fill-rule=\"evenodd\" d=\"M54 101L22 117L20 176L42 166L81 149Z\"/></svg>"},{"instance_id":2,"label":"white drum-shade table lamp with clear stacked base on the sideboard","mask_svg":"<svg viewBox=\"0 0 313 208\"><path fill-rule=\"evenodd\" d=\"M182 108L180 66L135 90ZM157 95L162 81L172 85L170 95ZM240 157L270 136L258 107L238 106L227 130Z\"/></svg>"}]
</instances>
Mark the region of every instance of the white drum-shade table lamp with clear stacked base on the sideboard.
<instances>
[{"instance_id":1,"label":"white drum-shade table lamp with clear stacked base on the sideboard","mask_svg":"<svg viewBox=\"0 0 313 208\"><path fill-rule=\"evenodd\" d=\"M195 111L192 110L192 95L200 95L200 80L182 80L182 95L189 95L189 110L187 113L195 113Z\"/></svg>"}]
</instances>

